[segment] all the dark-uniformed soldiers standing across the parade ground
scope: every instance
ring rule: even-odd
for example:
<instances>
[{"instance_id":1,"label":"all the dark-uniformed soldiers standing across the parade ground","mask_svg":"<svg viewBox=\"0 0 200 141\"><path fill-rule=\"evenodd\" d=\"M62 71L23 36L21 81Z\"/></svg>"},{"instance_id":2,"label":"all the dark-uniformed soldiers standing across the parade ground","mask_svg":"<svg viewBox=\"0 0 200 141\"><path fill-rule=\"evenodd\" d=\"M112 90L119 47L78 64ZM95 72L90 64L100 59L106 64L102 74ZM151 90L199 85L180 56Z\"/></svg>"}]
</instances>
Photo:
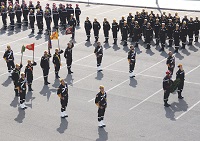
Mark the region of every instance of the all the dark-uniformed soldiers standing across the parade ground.
<instances>
[{"instance_id":1,"label":"all the dark-uniformed soldiers standing across the parade ground","mask_svg":"<svg viewBox=\"0 0 200 141\"><path fill-rule=\"evenodd\" d=\"M67 4L66 7L63 4L59 4L59 7L54 3L52 8L49 4L46 4L45 10L43 12L40 2L37 2L37 5L34 6L32 1L29 1L29 5L22 2L21 6L16 2L12 4L9 2L8 7L6 8L5 4L1 4L1 16L4 29L7 29L7 15L10 17L10 30L14 30L15 26L21 28L21 26L30 25L31 33L35 32L35 21L38 26L38 34L42 34L44 30L43 18L46 21L46 31L47 34L51 32L51 23L53 21L54 29L58 30L58 26L62 26L63 30L66 30L67 26L72 28L72 39L75 36L75 27L80 26L80 14L81 10L79 5L76 4L75 10L72 8L71 4ZM75 17L74 17L75 15ZM16 21L15 21L16 16ZM23 16L23 20L21 17ZM52 18L53 17L53 18ZM130 46L128 52L128 64L129 64L129 74L130 78L135 77L134 69L136 65L136 51L135 48L138 47L139 41L143 41L146 44L146 49L151 48L151 43L155 39L156 45L161 46L160 51L164 51L166 46L166 41L168 40L168 47L175 47L175 53L178 53L180 41L182 42L181 49L185 49L186 42L188 45L192 45L193 42L198 42L199 39L199 30L200 30L200 21L198 17L195 17L193 20L192 17L189 19L185 16L183 19L180 19L178 13L175 13L172 16L170 13L166 15L165 12L160 16L159 14L154 14L153 11L148 14L145 10L142 12L136 12L135 16L132 13L129 13L128 17L125 19L122 16L119 23L116 19L113 19L112 24L110 24L107 18L103 19L103 33L105 37L104 43L109 43L109 33L112 31L113 44L117 44L118 32L121 35L121 41L123 46L128 45L128 38L131 39L131 42L134 42L134 46ZM101 68L102 59L103 59L103 50L104 48L99 42L99 31L101 29L101 24L94 18L94 21L91 22L89 17L86 17L84 22L84 28L86 32L87 42L90 42L91 30L93 29L94 38L96 42L96 47L94 49L94 54L96 56L97 62L97 73L103 71ZM194 37L194 39L193 39ZM173 44L174 43L174 44ZM72 74L72 51L74 48L74 43L69 42L67 48L63 51L60 48L55 49L55 53L51 55L50 51L44 51L44 55L41 57L40 66L43 71L44 85L50 84L48 81L48 75L50 70L50 58L52 57L52 63L54 65L55 79L59 79L59 70L61 67L61 54L64 54L66 59L66 65L68 69L68 74ZM172 52L168 53L168 58L166 61L167 72L166 76L163 79L163 90L164 90L164 106L169 107L168 98L171 93L171 87L174 86L177 88L178 98L183 99L182 91L184 87L185 72L183 70L182 64L178 65L178 71L176 72L176 79L178 82L172 81L172 75L175 68L175 57ZM7 50L4 53L3 58L7 63L9 77L12 78L14 83L14 92L15 96L20 96L20 107L26 109L25 98L26 90L33 91L32 82L33 82L33 67L37 65L36 62L28 60L24 72L21 72L23 67L22 63L14 63L14 55L11 47L8 45ZM175 85L176 84L176 85ZM99 87L100 91L96 95L95 104L98 106L98 126L105 127L104 124L104 114L107 107L107 94L104 91L104 86ZM60 98L61 103L61 117L68 117L66 108L68 104L68 85L63 80L60 79L60 86L57 90L57 95Z\"/></svg>"}]
</instances>

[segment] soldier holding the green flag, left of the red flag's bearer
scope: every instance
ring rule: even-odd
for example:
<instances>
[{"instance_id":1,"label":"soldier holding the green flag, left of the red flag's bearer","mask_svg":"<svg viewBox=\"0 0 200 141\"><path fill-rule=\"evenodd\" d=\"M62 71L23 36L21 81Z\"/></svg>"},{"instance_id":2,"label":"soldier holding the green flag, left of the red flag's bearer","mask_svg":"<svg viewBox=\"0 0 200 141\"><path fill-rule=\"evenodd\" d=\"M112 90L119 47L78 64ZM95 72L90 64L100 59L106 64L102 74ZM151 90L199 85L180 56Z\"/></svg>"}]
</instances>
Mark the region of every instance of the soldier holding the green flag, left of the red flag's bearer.
<instances>
[{"instance_id":1,"label":"soldier holding the green flag, left of the red flag's bearer","mask_svg":"<svg viewBox=\"0 0 200 141\"><path fill-rule=\"evenodd\" d=\"M14 83L15 96L19 96L18 81L19 81L19 78L20 78L21 68L22 68L22 64L20 64L20 65L16 64L15 68L13 69L13 72L12 72L12 80L13 80L13 83Z\"/></svg>"}]
</instances>

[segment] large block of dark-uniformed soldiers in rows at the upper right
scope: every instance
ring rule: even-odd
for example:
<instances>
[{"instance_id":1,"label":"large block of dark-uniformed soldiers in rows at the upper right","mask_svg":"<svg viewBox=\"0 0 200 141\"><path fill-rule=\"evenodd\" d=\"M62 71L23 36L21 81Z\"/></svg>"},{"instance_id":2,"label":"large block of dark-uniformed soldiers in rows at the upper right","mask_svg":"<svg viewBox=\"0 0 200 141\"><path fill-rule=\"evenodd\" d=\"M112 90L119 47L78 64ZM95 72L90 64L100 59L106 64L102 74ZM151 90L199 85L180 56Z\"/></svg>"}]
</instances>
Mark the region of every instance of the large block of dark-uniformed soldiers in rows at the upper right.
<instances>
[{"instance_id":1,"label":"large block of dark-uniformed soldiers in rows at the upper right","mask_svg":"<svg viewBox=\"0 0 200 141\"><path fill-rule=\"evenodd\" d=\"M150 49L151 41L154 36L156 39L156 45L159 45L159 42L161 43L160 51L164 51L167 39L169 39L169 47L172 47L174 40L175 52L177 53L180 40L182 41L182 49L185 49L187 36L189 37L188 45L192 45L193 37L195 37L194 41L198 42L200 30L200 21L198 17L195 17L195 20L193 20L192 17L188 19L187 16L184 16L181 21L178 13L176 13L174 17L172 17L171 14L166 16L165 13L163 13L161 17L159 17L159 14L155 16L153 12L151 12L150 15L148 15L147 12L143 13L144 14L136 12L135 17L129 13L127 20L125 20L125 17L122 16L119 24L116 19L114 19L112 25L110 25L107 21L107 18L104 18L104 43L108 43L110 29L112 29L113 34L113 44L117 43L117 35L118 31L120 31L122 37L121 41L124 42L124 46L127 46L127 39L129 37L132 42L135 42L135 47L138 47L139 40L143 37L144 43L147 43L147 49ZM97 42L101 24L96 18L94 18L94 22L92 24L89 17L87 17L85 21L85 31L87 35L86 41L90 41L90 32L92 28L94 30L95 42Z\"/></svg>"}]
</instances>

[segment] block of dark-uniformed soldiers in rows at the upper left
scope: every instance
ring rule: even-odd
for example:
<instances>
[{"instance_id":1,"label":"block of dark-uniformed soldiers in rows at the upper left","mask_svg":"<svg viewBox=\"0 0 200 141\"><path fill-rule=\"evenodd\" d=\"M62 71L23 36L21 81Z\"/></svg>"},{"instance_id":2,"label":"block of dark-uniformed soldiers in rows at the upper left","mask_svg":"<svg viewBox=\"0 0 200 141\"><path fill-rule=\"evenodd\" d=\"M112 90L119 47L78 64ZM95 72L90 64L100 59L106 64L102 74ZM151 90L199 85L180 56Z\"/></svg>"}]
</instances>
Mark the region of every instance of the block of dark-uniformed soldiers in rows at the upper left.
<instances>
[{"instance_id":1,"label":"block of dark-uniformed soldiers in rows at the upper left","mask_svg":"<svg viewBox=\"0 0 200 141\"><path fill-rule=\"evenodd\" d=\"M35 10L37 11L35 14ZM26 2L23 0L21 6L16 1L15 5L13 5L11 2L9 2L8 7L5 7L5 4L2 3L1 6L1 15L2 15L2 21L4 29L7 29L7 15L10 17L10 29L14 30L14 18L16 16L17 18L17 25L19 28L21 28L22 20L21 17L23 15L23 22L25 26L28 26L28 21L30 22L30 26L32 29L32 33L34 32L34 22L35 19L37 21L39 34L43 31L43 17L46 21L47 30L51 30L51 22L52 22L52 16L53 15L53 22L54 22L54 28L58 29L58 22L60 20L60 24L65 29L67 26L66 20L70 21L71 15L75 15L77 25L80 24L79 16L81 14L81 10L79 8L79 5L76 4L76 8L72 7L71 4L59 4L59 7L56 6L55 3L53 3L52 9L50 8L49 4L46 4L45 11L43 11L42 6L40 5L40 2L37 2L37 5L34 6L32 1L29 1L29 5L27 6ZM35 18L36 17L36 18Z\"/></svg>"}]
</instances>

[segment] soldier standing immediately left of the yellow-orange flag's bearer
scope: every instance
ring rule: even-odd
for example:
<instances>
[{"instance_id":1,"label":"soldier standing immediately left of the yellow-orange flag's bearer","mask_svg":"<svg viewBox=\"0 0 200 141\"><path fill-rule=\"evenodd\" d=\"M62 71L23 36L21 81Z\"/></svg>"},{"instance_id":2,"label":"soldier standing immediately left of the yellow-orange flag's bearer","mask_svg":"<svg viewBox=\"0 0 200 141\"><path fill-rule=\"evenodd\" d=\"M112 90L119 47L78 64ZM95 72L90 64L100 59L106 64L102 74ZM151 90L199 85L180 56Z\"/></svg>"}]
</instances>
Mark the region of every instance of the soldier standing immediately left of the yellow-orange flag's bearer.
<instances>
[{"instance_id":1,"label":"soldier standing immediately left of the yellow-orange flag's bearer","mask_svg":"<svg viewBox=\"0 0 200 141\"><path fill-rule=\"evenodd\" d=\"M48 54L47 51L44 51L44 55L42 56L41 61L40 61L40 66L42 68L43 77L44 77L44 85L50 84L48 82L48 75L49 75L49 69L50 69L49 58L51 58L51 54L50 53Z\"/></svg>"}]
</instances>

